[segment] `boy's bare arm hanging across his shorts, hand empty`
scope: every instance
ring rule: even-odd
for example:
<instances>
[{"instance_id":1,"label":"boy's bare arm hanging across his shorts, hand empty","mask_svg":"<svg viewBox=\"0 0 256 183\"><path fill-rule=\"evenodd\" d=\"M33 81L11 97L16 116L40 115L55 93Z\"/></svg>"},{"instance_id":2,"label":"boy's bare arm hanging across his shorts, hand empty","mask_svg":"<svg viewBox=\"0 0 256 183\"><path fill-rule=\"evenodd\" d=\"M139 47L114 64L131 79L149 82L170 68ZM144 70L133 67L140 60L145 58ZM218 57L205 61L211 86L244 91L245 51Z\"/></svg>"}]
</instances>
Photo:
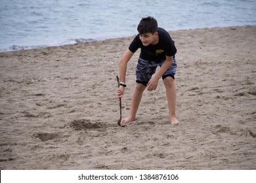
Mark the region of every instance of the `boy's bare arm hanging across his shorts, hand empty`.
<instances>
[{"instance_id":1,"label":"boy's bare arm hanging across his shorts, hand empty","mask_svg":"<svg viewBox=\"0 0 256 183\"><path fill-rule=\"evenodd\" d=\"M173 63L173 56L166 56L165 62L161 65L161 69L156 73L154 77L148 82L148 91L156 90L158 87L158 80L160 80L161 76L171 67Z\"/></svg>"}]
</instances>

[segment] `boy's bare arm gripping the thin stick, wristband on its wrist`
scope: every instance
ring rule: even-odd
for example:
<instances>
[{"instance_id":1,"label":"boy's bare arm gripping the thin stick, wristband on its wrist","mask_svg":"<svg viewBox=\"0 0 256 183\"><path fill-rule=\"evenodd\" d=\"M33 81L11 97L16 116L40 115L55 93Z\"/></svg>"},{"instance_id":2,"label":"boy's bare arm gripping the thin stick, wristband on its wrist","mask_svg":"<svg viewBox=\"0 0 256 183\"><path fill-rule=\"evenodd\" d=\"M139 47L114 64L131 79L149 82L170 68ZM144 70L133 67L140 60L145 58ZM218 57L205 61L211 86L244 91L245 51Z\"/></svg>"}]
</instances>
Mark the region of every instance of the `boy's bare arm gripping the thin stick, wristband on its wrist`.
<instances>
[{"instance_id":1,"label":"boy's bare arm gripping the thin stick, wristband on its wrist","mask_svg":"<svg viewBox=\"0 0 256 183\"><path fill-rule=\"evenodd\" d=\"M125 83L125 75L126 75L126 70L127 70L127 63L133 56L133 52L131 52L129 49L125 51L123 54L120 62L119 62L119 77L120 77L120 82ZM125 87L119 86L117 90L117 95L121 98L123 97Z\"/></svg>"}]
</instances>

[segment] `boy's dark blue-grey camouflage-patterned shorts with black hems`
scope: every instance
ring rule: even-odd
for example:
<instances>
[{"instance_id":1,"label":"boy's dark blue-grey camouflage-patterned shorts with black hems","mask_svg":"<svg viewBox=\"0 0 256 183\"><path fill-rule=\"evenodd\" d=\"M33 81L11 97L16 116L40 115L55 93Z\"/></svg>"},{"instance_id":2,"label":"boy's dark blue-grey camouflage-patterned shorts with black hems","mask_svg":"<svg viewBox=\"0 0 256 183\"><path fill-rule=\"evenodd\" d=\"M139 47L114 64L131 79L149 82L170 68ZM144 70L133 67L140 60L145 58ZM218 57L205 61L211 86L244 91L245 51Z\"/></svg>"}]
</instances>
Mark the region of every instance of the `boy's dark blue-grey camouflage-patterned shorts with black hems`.
<instances>
[{"instance_id":1,"label":"boy's dark blue-grey camouflage-patterned shorts with black hems","mask_svg":"<svg viewBox=\"0 0 256 183\"><path fill-rule=\"evenodd\" d=\"M142 58L139 58L137 67L136 67L136 82L144 84L148 84L149 80L151 79L152 75L156 73L156 68L158 66L161 67L163 62L154 62L154 61L146 61ZM167 76L171 76L174 79L174 75L176 73L177 63L176 59L173 58L173 64L169 69L163 74L162 78L166 78Z\"/></svg>"}]
</instances>

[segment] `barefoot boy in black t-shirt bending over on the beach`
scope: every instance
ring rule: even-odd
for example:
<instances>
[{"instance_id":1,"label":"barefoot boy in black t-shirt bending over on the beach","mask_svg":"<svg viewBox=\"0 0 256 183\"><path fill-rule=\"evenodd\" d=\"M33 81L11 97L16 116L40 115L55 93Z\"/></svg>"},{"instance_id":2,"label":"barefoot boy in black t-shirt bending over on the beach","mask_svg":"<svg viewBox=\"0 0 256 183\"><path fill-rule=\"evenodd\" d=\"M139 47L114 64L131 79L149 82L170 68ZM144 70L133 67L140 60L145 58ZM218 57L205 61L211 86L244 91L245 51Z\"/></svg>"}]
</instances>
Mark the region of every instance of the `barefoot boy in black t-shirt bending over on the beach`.
<instances>
[{"instance_id":1,"label":"barefoot boy in black t-shirt bending over on the beach","mask_svg":"<svg viewBox=\"0 0 256 183\"><path fill-rule=\"evenodd\" d=\"M119 125L125 126L125 124L135 120L142 93L146 87L148 87L148 91L156 90L160 78L163 79L166 89L170 122L171 124L178 124L179 121L175 114L176 86L174 80L177 67L175 60L177 50L174 41L165 29L158 27L156 19L150 16L140 20L137 30L139 34L133 39L133 42L131 42L119 62L120 86L117 89L117 95L121 98L126 87L127 63L137 49L140 48L140 57L136 68L137 80L131 99L130 113L128 118L122 119ZM158 66L161 68L156 73Z\"/></svg>"}]
</instances>

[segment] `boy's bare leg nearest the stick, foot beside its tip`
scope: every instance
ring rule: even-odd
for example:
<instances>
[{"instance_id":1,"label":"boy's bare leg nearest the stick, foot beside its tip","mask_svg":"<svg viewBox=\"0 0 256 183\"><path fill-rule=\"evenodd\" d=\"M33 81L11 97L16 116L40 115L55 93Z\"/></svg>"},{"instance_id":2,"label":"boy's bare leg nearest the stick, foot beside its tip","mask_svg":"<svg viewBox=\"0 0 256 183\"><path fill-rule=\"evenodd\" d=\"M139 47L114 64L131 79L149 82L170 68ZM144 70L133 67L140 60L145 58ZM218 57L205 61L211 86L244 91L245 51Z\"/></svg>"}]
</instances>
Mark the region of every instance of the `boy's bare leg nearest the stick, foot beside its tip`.
<instances>
[{"instance_id":1,"label":"boy's bare leg nearest the stick, foot beside its tip","mask_svg":"<svg viewBox=\"0 0 256 183\"><path fill-rule=\"evenodd\" d=\"M137 110L140 105L140 101L142 98L142 93L144 92L146 86L140 83L136 83L135 88L133 90L133 96L131 98L131 108L130 108L130 114L128 118L125 118L121 120L123 124L127 124L129 122L133 122L136 118Z\"/></svg>"}]
</instances>

